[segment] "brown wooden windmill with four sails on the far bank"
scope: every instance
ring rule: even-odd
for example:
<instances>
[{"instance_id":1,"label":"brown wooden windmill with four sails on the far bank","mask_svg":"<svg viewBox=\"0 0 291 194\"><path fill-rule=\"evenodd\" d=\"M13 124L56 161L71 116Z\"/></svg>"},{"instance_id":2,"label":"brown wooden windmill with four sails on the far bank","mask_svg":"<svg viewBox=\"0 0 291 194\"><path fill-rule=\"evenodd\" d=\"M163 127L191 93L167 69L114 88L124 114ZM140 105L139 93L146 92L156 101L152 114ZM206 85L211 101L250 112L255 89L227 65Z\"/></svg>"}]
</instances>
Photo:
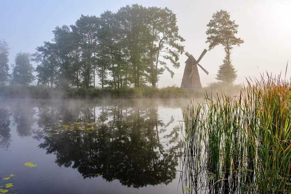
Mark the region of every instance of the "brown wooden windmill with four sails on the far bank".
<instances>
[{"instance_id":1,"label":"brown wooden windmill with four sails on the far bank","mask_svg":"<svg viewBox=\"0 0 291 194\"><path fill-rule=\"evenodd\" d=\"M209 72L206 71L206 69L204 69L199 64L200 60L202 59L202 57L205 55L206 52L207 52L207 50L204 49L197 61L192 55L189 54L189 52L185 53L185 55L188 57L188 59L185 62L186 65L185 65L185 69L184 69L181 88L186 88L186 89L202 88L197 65L207 75L209 74Z\"/></svg>"}]
</instances>

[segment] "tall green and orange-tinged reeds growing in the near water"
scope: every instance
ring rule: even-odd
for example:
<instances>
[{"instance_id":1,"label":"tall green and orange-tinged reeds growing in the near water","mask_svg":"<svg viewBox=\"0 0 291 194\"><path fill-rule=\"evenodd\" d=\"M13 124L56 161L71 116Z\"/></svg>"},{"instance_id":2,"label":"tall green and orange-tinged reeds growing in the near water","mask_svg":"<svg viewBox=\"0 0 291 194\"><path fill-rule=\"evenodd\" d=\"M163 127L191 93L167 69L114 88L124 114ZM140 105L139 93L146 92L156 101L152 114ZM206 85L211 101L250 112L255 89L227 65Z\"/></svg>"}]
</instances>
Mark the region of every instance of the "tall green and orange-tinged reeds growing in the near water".
<instances>
[{"instance_id":1,"label":"tall green and orange-tinged reeds growing in the near water","mask_svg":"<svg viewBox=\"0 0 291 194\"><path fill-rule=\"evenodd\" d=\"M291 192L291 87L269 78L206 95L182 125L182 183L206 193ZM205 189L205 190L203 190Z\"/></svg>"}]
</instances>

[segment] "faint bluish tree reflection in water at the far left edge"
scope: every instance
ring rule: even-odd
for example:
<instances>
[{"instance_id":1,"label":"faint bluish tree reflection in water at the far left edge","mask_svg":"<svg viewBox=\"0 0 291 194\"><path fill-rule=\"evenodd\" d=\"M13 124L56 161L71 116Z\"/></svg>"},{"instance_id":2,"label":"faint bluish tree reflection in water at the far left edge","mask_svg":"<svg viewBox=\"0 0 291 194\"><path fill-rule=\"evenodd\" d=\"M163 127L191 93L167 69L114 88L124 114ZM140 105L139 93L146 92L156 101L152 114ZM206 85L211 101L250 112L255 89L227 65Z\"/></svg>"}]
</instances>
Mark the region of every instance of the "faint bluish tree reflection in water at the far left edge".
<instances>
[{"instance_id":1,"label":"faint bluish tree reflection in water at the far left edge","mask_svg":"<svg viewBox=\"0 0 291 194\"><path fill-rule=\"evenodd\" d=\"M10 146L10 112L8 109L0 108L0 147L7 149Z\"/></svg>"}]
</instances>

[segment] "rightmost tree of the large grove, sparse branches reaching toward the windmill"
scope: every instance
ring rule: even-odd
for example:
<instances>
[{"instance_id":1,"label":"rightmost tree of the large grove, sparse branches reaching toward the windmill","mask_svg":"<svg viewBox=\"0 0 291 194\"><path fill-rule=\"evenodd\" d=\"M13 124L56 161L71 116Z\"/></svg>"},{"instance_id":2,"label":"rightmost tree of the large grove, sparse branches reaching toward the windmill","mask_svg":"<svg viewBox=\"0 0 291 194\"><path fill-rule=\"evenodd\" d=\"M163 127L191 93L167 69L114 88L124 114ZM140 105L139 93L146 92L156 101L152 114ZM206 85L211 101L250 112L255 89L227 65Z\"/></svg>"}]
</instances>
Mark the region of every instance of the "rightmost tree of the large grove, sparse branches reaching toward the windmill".
<instances>
[{"instance_id":1,"label":"rightmost tree of the large grove, sparse branches reaching toward the windmill","mask_svg":"<svg viewBox=\"0 0 291 194\"><path fill-rule=\"evenodd\" d=\"M146 42L149 56L149 82L156 87L158 75L166 69L173 78L174 72L169 69L164 60L169 60L174 68L179 68L179 55L184 52L184 46L179 42L185 39L179 35L176 14L168 8L149 7L146 10L145 25ZM163 60L160 60L162 58ZM158 65L161 65L158 68Z\"/></svg>"}]
</instances>

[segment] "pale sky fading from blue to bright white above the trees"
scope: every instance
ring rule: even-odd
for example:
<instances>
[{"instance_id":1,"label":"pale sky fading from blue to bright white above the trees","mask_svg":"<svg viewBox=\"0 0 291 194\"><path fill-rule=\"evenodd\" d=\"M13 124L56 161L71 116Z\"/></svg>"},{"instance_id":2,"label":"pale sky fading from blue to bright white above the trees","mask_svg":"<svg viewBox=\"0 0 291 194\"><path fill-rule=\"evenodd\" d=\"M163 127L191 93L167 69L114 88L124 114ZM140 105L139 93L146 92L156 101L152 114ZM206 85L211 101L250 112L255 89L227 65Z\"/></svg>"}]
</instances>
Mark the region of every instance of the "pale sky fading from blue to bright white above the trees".
<instances>
[{"instance_id":1,"label":"pale sky fading from blue to bright white above the trees","mask_svg":"<svg viewBox=\"0 0 291 194\"><path fill-rule=\"evenodd\" d=\"M230 12L231 19L239 24L238 36L245 43L233 49L232 63L238 70L237 83L245 76L259 76L259 72L285 72L287 59L291 59L291 25L289 0L241 0L241 1L93 1L50 0L24 1L0 0L0 39L10 47L10 63L17 52L34 53L43 41L52 39L57 26L73 24L81 14L99 16L105 10L116 12L121 6L138 3L144 6L168 7L177 14L180 34L186 39L186 51L198 58L207 49L206 24L212 14L220 9ZM202 85L215 81L218 66L222 63L222 47L206 53L201 65L210 73L199 70ZM174 79L169 74L161 76L159 86L180 86L186 56L180 58L181 67L175 70ZM172 68L173 69L173 68ZM290 71L291 72L291 69ZM291 73L288 73L290 76Z\"/></svg>"}]
</instances>

